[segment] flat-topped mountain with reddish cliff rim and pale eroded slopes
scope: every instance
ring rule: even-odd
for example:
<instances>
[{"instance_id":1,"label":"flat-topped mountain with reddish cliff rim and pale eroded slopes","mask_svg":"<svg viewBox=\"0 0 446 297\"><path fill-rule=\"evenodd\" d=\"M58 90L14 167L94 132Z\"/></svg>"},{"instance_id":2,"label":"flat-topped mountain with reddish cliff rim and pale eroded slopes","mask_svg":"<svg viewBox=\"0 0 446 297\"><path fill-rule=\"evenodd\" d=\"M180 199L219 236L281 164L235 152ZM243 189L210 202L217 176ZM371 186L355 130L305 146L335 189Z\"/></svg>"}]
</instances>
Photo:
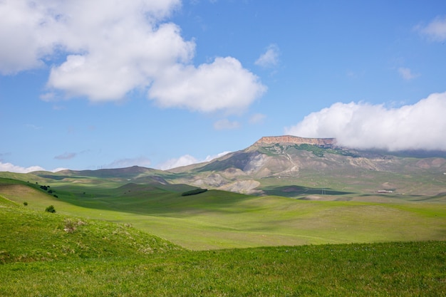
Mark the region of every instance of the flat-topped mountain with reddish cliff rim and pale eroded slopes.
<instances>
[{"instance_id":1,"label":"flat-topped mountain with reddish cliff rim and pale eroded slopes","mask_svg":"<svg viewBox=\"0 0 446 297\"><path fill-rule=\"evenodd\" d=\"M244 150L170 172L180 174L177 182L247 194L446 193L446 152L356 150L335 138L261 137Z\"/></svg>"}]
</instances>

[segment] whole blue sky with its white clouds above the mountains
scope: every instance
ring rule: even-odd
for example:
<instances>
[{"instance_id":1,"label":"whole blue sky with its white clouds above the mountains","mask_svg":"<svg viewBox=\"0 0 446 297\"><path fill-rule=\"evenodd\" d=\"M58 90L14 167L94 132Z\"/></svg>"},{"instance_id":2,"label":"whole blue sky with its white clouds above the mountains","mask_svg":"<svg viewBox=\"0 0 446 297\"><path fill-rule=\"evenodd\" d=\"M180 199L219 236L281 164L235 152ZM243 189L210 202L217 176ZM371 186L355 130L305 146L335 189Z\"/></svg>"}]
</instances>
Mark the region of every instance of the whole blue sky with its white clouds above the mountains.
<instances>
[{"instance_id":1,"label":"whole blue sky with its white clouds above the mountains","mask_svg":"<svg viewBox=\"0 0 446 297\"><path fill-rule=\"evenodd\" d=\"M445 42L442 0L0 0L0 171L446 150Z\"/></svg>"}]
</instances>

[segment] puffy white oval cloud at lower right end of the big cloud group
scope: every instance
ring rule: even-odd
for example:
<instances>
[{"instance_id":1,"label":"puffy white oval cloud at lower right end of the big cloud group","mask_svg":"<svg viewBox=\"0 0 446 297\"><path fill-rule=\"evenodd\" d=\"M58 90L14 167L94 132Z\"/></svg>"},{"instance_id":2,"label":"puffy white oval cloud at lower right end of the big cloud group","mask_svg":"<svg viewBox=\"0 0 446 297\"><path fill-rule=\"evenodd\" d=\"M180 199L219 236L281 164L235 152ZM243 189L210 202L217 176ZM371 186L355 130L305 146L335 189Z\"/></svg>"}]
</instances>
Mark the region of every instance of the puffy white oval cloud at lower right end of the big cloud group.
<instances>
[{"instance_id":1,"label":"puffy white oval cloud at lower right end of the big cloud group","mask_svg":"<svg viewBox=\"0 0 446 297\"><path fill-rule=\"evenodd\" d=\"M149 97L165 108L239 113L265 90L256 75L227 57L198 68L180 64L166 68L150 88Z\"/></svg>"}]
</instances>

